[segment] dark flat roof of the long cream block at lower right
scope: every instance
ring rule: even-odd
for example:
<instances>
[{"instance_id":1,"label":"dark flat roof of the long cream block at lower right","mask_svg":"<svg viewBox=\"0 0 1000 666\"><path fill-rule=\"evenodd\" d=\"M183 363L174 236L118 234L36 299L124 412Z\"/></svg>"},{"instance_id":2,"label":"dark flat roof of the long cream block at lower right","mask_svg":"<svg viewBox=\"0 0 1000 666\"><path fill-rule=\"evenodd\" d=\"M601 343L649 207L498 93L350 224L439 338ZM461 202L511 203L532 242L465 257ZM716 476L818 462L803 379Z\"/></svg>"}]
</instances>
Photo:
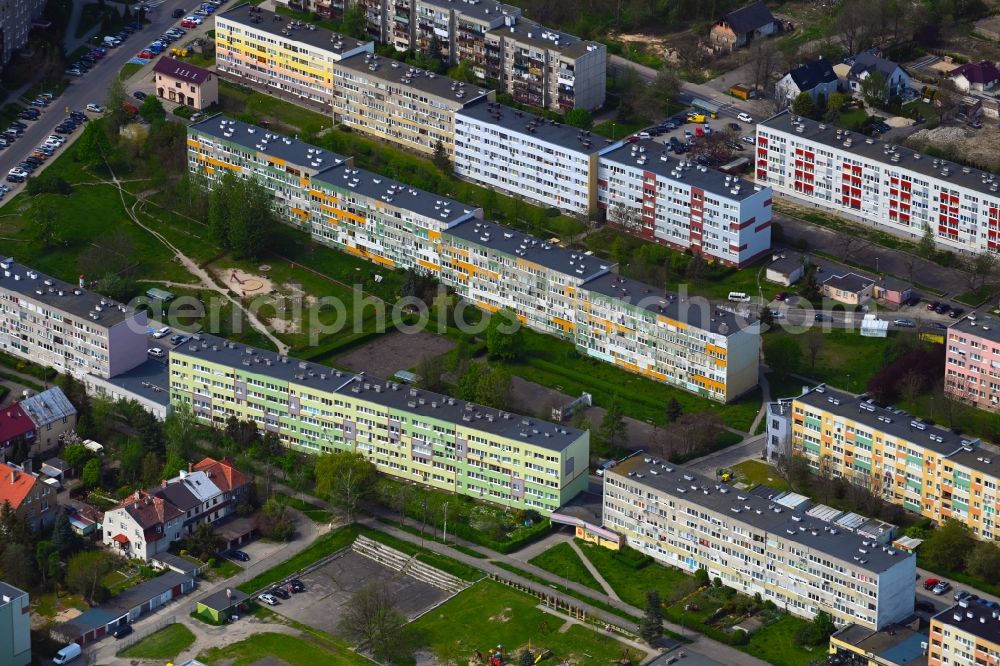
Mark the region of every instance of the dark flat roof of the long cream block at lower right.
<instances>
[{"instance_id":1,"label":"dark flat roof of the long cream block at lower right","mask_svg":"<svg viewBox=\"0 0 1000 666\"><path fill-rule=\"evenodd\" d=\"M734 522L750 525L875 574L896 566L908 557L914 557L909 553L878 546L852 532L831 527L828 523L809 516L804 509L779 506L767 497L737 490L680 465L660 462L655 458L643 457L642 454L619 463L617 467L605 472L608 473L626 477L631 483L640 483L671 497L692 502ZM804 503L805 506L808 504Z\"/></svg>"}]
</instances>

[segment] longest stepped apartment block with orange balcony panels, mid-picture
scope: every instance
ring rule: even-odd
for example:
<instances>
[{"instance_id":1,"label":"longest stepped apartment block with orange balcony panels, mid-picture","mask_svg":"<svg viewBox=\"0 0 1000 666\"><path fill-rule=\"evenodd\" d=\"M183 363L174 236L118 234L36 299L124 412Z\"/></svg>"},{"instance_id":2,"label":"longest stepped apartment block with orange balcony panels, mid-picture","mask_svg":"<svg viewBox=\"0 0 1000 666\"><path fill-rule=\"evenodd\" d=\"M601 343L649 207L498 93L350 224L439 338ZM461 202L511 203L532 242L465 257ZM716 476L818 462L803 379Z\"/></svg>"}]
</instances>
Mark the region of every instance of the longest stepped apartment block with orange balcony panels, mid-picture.
<instances>
[{"instance_id":1,"label":"longest stepped apartment block with orange balcony panels, mid-picture","mask_svg":"<svg viewBox=\"0 0 1000 666\"><path fill-rule=\"evenodd\" d=\"M188 129L188 163L278 188L289 222L389 268L417 268L463 298L572 341L631 372L728 402L757 384L759 323L612 273L608 262L482 220L482 210L357 169L350 158L304 177L308 144L260 141L259 128L215 116ZM272 146L282 151L278 162ZM286 173L282 174L282 170ZM291 174L291 176L289 176Z\"/></svg>"}]
</instances>

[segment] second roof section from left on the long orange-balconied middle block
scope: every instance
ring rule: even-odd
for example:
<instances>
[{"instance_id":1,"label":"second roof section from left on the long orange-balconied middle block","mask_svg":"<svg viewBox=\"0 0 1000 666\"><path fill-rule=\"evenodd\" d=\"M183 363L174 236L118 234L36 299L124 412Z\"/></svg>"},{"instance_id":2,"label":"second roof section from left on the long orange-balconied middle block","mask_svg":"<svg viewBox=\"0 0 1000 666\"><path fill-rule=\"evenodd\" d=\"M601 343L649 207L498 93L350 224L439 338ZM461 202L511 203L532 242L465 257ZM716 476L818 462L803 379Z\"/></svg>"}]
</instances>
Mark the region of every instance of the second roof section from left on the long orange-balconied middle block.
<instances>
[{"instance_id":1,"label":"second roof section from left on the long orange-balconied middle block","mask_svg":"<svg viewBox=\"0 0 1000 666\"><path fill-rule=\"evenodd\" d=\"M404 208L417 215L432 218L450 226L477 214L480 209L433 192L419 190L392 178L351 166L326 169L313 177L313 182L326 183L356 194Z\"/></svg>"}]
</instances>

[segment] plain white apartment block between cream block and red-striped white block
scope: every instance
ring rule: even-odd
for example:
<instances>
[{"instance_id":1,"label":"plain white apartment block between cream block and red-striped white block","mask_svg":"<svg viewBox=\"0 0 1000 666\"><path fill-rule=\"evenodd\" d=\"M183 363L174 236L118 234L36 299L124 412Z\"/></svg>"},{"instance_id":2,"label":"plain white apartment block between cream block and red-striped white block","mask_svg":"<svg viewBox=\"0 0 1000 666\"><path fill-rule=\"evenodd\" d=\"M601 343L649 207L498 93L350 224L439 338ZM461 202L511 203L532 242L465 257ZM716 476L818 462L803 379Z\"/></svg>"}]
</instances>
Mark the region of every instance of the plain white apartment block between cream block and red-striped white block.
<instances>
[{"instance_id":1,"label":"plain white apartment block between cream block and red-striped white block","mask_svg":"<svg viewBox=\"0 0 1000 666\"><path fill-rule=\"evenodd\" d=\"M455 173L575 215L597 210L603 137L501 104L455 114Z\"/></svg>"}]
</instances>

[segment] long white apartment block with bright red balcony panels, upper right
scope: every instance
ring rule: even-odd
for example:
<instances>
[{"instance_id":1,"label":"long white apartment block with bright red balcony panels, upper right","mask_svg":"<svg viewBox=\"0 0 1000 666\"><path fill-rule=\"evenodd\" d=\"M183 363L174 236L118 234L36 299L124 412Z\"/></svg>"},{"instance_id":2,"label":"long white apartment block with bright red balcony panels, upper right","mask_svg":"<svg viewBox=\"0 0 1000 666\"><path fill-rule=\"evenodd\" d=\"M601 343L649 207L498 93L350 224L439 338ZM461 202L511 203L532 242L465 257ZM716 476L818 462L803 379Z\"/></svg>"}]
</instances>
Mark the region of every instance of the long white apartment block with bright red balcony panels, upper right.
<instances>
[{"instance_id":1,"label":"long white apartment block with bright red balcony panels, upper right","mask_svg":"<svg viewBox=\"0 0 1000 666\"><path fill-rule=\"evenodd\" d=\"M961 252L1000 251L1000 181L963 167L795 116L757 125L757 182L778 194Z\"/></svg>"}]
</instances>

